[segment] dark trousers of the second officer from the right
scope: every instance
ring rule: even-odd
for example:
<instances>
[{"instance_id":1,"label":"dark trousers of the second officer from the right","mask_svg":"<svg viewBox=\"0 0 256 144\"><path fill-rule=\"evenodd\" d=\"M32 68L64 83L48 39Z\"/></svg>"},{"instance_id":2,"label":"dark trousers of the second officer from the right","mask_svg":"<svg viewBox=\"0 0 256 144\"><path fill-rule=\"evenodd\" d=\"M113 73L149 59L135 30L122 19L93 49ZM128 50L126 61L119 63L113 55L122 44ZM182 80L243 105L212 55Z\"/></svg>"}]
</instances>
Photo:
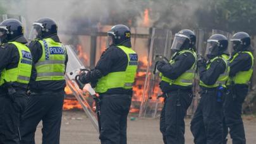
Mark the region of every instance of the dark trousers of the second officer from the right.
<instances>
[{"instance_id":1,"label":"dark trousers of the second officer from the right","mask_svg":"<svg viewBox=\"0 0 256 144\"><path fill-rule=\"evenodd\" d=\"M195 144L222 143L222 102L217 102L217 91L208 90L201 99L191 121Z\"/></svg>"}]
</instances>

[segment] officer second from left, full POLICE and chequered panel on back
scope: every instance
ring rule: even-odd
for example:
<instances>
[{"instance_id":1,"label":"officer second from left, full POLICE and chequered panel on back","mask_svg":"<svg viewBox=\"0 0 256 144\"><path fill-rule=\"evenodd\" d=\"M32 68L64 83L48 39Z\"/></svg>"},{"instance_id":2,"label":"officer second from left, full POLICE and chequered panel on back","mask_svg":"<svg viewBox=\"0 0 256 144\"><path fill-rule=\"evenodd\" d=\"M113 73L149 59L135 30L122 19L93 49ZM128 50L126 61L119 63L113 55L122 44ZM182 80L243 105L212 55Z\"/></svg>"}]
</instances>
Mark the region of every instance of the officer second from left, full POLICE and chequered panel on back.
<instances>
[{"instance_id":1,"label":"officer second from left, full POLICE and chequered panel on back","mask_svg":"<svg viewBox=\"0 0 256 144\"><path fill-rule=\"evenodd\" d=\"M35 40L28 46L34 60L30 81L32 93L21 123L21 143L35 143L35 130L42 120L42 143L58 144L68 57L53 20L41 18L33 26Z\"/></svg>"}]
</instances>

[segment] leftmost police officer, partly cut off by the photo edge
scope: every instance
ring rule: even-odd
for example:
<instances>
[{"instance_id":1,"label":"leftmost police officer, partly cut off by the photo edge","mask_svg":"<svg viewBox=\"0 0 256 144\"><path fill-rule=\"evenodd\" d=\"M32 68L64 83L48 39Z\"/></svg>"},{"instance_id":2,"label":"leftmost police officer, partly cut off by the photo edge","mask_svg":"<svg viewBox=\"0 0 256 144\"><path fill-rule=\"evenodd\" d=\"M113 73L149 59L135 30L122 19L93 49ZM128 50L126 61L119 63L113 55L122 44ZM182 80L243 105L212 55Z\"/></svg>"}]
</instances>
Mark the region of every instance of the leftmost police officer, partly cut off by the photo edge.
<instances>
[{"instance_id":1,"label":"leftmost police officer, partly cut off by the photo edge","mask_svg":"<svg viewBox=\"0 0 256 144\"><path fill-rule=\"evenodd\" d=\"M18 20L0 23L0 143L20 143L20 119L27 105L32 55Z\"/></svg>"}]
</instances>

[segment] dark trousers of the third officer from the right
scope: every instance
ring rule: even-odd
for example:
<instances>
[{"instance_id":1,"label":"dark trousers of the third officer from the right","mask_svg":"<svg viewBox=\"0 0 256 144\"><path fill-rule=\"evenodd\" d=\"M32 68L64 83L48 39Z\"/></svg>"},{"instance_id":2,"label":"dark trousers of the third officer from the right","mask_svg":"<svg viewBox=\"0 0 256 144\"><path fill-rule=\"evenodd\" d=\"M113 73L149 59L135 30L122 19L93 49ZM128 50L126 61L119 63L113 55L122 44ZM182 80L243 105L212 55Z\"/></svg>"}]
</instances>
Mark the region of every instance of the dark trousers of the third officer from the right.
<instances>
[{"instance_id":1,"label":"dark trousers of the third officer from the right","mask_svg":"<svg viewBox=\"0 0 256 144\"><path fill-rule=\"evenodd\" d=\"M185 143L184 118L192 99L190 90L177 90L168 93L160 117L160 131L165 144Z\"/></svg>"}]
</instances>

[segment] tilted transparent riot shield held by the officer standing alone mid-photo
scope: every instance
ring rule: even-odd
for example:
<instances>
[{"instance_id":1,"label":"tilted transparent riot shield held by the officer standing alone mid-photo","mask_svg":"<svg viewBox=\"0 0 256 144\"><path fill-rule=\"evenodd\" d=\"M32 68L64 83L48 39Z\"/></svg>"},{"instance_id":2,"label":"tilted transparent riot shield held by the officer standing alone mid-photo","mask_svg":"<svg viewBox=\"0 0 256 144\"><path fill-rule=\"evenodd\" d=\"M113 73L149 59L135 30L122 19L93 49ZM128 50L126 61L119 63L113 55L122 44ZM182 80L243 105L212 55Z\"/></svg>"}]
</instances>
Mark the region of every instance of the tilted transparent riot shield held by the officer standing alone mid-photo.
<instances>
[{"instance_id":1,"label":"tilted transparent riot shield held by the officer standing alone mid-photo","mask_svg":"<svg viewBox=\"0 0 256 144\"><path fill-rule=\"evenodd\" d=\"M85 114L94 125L95 129L99 132L97 115L95 113L95 100L92 95L95 95L95 91L90 84L85 85L83 90L80 90L75 81L75 76L80 73L80 69L85 68L82 62L76 56L75 51L71 45L66 45L66 51L68 52L68 64L66 66L66 83L72 90L78 102L82 105Z\"/></svg>"}]
</instances>

